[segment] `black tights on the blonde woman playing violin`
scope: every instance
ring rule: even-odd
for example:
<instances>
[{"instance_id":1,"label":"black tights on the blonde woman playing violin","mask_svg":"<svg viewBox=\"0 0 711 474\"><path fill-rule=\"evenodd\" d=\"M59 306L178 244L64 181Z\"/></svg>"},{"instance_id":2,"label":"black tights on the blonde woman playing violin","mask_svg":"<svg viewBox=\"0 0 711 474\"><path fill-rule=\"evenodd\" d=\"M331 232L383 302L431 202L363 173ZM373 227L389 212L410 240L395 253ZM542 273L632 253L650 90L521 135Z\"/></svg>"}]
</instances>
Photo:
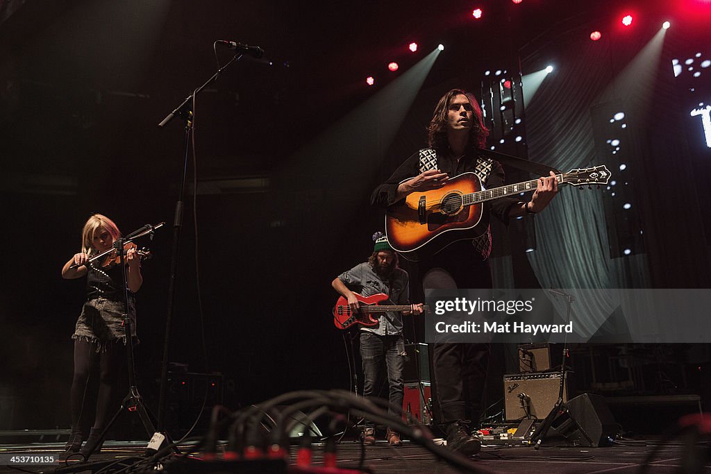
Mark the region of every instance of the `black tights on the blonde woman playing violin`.
<instances>
[{"instance_id":1,"label":"black tights on the blonde woman playing violin","mask_svg":"<svg viewBox=\"0 0 711 474\"><path fill-rule=\"evenodd\" d=\"M119 374L126 364L126 347L122 341L105 342L100 352L97 352L97 348L99 348L97 343L74 340L74 379L69 400L72 410L72 428L75 431L82 428L86 417L89 416L87 407L90 407L92 400L87 396L93 393L89 384L95 377L98 377L99 390L93 426L105 428L107 417L112 409Z\"/></svg>"}]
</instances>

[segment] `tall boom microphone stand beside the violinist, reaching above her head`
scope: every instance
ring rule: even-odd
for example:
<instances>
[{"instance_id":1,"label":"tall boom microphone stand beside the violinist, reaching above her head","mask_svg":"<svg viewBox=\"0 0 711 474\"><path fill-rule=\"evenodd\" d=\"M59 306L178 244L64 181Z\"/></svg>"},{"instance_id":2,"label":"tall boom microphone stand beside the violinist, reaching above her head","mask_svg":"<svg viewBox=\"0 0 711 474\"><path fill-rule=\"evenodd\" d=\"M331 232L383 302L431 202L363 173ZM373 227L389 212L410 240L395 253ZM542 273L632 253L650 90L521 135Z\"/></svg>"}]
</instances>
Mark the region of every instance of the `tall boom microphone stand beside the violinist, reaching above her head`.
<instances>
[{"instance_id":1,"label":"tall boom microphone stand beside the violinist, reaching above her head","mask_svg":"<svg viewBox=\"0 0 711 474\"><path fill-rule=\"evenodd\" d=\"M171 325L173 320L173 305L175 303L175 288L176 288L176 274L178 272L178 254L180 250L180 239L181 239L181 229L183 227L183 195L185 195L185 182L186 175L188 173L188 153L190 150L190 141L193 134L193 101L195 96L198 95L205 87L217 80L220 72L225 70L230 64L238 61L242 58L242 53L235 55L227 64L222 68L218 69L217 72L210 77L210 79L205 82L205 84L198 87L193 91L191 95L188 95L183 103L178 105L176 109L164 118L161 123L158 124L159 127L164 127L171 120L173 120L176 115L180 116L185 122L185 153L183 156L183 176L181 176L180 190L178 191L178 200L176 202L175 217L173 218L173 250L171 252L171 274L169 277L168 284L168 305L166 310L166 331L164 335L163 344L163 360L161 362L161 388L158 402L158 430L163 431L163 416L165 411L166 402L166 387L168 386L168 355L170 347L171 338ZM197 192L195 190L194 192Z\"/></svg>"}]
</instances>

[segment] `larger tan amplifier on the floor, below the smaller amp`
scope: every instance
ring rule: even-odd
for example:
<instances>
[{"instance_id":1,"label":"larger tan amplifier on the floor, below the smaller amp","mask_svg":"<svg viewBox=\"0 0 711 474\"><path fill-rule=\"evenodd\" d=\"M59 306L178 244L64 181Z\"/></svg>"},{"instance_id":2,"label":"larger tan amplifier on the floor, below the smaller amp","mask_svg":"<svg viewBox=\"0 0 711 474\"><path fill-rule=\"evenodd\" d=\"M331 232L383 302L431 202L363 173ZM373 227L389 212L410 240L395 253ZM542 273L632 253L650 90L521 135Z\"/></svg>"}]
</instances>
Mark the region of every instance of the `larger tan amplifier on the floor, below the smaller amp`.
<instances>
[{"instance_id":1,"label":"larger tan amplifier on the floor, below the smaller amp","mask_svg":"<svg viewBox=\"0 0 711 474\"><path fill-rule=\"evenodd\" d=\"M563 402L568 399L566 372ZM544 419L558 401L560 372L531 372L503 376L503 399L506 421L526 418L527 411L534 419Z\"/></svg>"}]
</instances>

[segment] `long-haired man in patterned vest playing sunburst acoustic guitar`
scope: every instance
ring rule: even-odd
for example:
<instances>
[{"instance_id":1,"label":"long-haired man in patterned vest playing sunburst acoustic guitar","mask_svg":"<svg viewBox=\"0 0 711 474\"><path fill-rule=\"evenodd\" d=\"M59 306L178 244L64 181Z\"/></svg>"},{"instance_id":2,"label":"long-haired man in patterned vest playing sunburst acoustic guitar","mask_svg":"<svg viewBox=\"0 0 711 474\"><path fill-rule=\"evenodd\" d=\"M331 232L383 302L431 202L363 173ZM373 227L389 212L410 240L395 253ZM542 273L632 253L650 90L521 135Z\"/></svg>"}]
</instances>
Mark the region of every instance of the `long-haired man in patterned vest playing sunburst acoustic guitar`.
<instances>
[{"instance_id":1,"label":"long-haired man in patterned vest playing sunburst acoustic guitar","mask_svg":"<svg viewBox=\"0 0 711 474\"><path fill-rule=\"evenodd\" d=\"M454 181L453 178L462 173L473 173L486 189L502 186L501 165L479 153L479 149L486 145L486 136L488 130L483 124L481 109L474 96L458 89L447 92L439 99L429 123L429 148L420 150L402 163L385 183L373 191L371 203L392 212L398 205L402 208L408 195L427 191L437 193L450 179ZM405 244L418 251L436 247L430 252L421 252L424 258L412 258L420 260L418 265L422 288L491 289L488 265L491 252L489 212L507 222L509 217L542 211L556 193L557 179L551 172L549 177L538 179L530 201L504 197L481 203L481 208L476 211L481 212L481 217L476 215L476 226L474 223L465 225L472 227L465 229L466 232L449 231L449 228L456 227L457 222L464 220L459 217L464 205L456 202L457 197L463 193L449 193L453 198L452 203L440 200L437 203L438 212L433 212L431 219L425 215L432 210L430 202L436 199L419 198L419 201L409 206L415 215L415 225L412 227L422 227L424 232L438 227L444 229L442 238L425 236L418 241L419 237L406 236ZM417 222L418 215L421 222ZM399 227L405 228L402 225ZM392 247L401 250L395 238L397 230L395 227L388 228L387 236ZM406 253L403 256L409 258ZM442 409L441 421L447 431L447 446L465 456L472 456L479 452L481 443L478 438L471 436L469 420L478 422L483 411L488 344L434 344L432 354L437 398Z\"/></svg>"}]
</instances>

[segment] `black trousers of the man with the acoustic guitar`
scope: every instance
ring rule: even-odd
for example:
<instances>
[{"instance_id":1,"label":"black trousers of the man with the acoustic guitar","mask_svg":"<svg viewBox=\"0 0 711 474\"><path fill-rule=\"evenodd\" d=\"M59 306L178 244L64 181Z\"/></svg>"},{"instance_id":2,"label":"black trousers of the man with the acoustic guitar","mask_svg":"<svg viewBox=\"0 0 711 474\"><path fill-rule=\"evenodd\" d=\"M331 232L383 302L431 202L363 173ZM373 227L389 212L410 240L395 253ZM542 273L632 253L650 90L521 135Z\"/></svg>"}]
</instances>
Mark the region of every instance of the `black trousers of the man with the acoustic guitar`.
<instances>
[{"instance_id":1,"label":"black trousers of the man with the acoustic guitar","mask_svg":"<svg viewBox=\"0 0 711 474\"><path fill-rule=\"evenodd\" d=\"M422 289L490 289L491 269L469 241L454 242L419 263ZM435 389L442 423L471 420L483 413L490 347L486 343L432 345Z\"/></svg>"}]
</instances>

